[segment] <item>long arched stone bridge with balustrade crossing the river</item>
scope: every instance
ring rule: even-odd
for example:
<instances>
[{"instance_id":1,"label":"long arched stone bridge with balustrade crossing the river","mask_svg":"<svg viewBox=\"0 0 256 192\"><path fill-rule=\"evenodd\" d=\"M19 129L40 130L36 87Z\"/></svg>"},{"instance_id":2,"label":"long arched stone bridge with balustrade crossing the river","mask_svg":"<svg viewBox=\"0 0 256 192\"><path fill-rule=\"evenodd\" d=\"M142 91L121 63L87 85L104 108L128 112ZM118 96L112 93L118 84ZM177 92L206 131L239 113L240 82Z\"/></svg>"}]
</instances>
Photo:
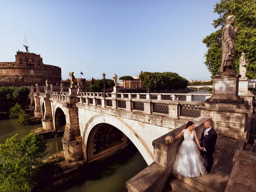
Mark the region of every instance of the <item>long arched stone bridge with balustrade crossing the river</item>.
<instances>
[{"instance_id":1,"label":"long arched stone bridge with balustrade crossing the river","mask_svg":"<svg viewBox=\"0 0 256 192\"><path fill-rule=\"evenodd\" d=\"M67 161L101 160L132 142L147 164L154 161L152 141L200 116L201 102L211 94L125 94L77 92L34 93L34 114L43 130L64 130ZM179 97L171 101L170 97Z\"/></svg>"}]
</instances>

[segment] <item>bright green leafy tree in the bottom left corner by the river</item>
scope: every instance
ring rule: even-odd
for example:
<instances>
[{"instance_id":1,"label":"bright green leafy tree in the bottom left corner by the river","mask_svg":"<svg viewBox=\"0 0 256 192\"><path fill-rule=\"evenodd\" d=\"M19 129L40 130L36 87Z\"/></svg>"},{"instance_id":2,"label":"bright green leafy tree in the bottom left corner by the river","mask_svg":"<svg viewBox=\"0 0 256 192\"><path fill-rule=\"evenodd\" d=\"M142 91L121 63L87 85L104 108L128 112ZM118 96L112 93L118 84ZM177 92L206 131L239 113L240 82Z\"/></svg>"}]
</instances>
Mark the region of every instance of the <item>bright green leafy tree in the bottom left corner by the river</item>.
<instances>
[{"instance_id":1,"label":"bright green leafy tree in the bottom left corner by the river","mask_svg":"<svg viewBox=\"0 0 256 192\"><path fill-rule=\"evenodd\" d=\"M30 132L18 140L17 134L0 144L0 191L29 192L36 186L42 158L46 154L46 140Z\"/></svg>"}]
</instances>

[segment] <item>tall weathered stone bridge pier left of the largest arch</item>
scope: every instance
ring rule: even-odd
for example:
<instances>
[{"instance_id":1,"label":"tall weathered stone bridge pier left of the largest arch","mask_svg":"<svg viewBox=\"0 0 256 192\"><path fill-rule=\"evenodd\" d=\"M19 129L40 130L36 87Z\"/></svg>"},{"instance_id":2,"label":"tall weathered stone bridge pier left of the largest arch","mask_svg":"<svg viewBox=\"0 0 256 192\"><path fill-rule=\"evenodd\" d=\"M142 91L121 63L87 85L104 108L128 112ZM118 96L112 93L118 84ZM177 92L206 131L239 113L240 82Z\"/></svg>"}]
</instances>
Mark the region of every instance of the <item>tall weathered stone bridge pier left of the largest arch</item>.
<instances>
[{"instance_id":1,"label":"tall weathered stone bridge pier left of the largest arch","mask_svg":"<svg viewBox=\"0 0 256 192\"><path fill-rule=\"evenodd\" d=\"M63 150L65 160L68 162L75 162L82 160L82 138L78 122L78 109L76 104L66 104L66 126L64 136L62 138Z\"/></svg>"}]
</instances>

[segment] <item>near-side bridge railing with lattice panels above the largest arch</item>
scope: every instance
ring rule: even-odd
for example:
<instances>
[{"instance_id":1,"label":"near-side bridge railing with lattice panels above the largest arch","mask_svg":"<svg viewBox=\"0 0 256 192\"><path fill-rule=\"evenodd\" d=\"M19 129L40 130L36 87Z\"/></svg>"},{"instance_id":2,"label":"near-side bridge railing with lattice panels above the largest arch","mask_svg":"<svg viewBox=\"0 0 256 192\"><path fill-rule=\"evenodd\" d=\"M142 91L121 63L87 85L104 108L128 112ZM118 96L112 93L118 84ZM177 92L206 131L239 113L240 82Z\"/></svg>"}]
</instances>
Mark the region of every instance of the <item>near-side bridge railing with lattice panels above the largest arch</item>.
<instances>
[{"instance_id":1,"label":"near-side bridge railing with lattice panels above the largest arch","mask_svg":"<svg viewBox=\"0 0 256 192\"><path fill-rule=\"evenodd\" d=\"M133 95L136 95L136 97ZM170 96L170 94L164 95ZM104 98L100 92L80 92L77 97L79 98L79 103L98 107L141 111L145 114L166 114L172 117L187 116L196 118L200 116L199 106L201 105L201 102L162 100L162 96L162 94L118 93L111 94L111 97ZM184 96L184 94L174 94L174 96ZM187 94L185 96L188 100L191 100L191 98L198 95ZM204 98L206 98L208 95L201 94L200 96L204 96ZM158 99L149 99L150 97Z\"/></svg>"}]
</instances>

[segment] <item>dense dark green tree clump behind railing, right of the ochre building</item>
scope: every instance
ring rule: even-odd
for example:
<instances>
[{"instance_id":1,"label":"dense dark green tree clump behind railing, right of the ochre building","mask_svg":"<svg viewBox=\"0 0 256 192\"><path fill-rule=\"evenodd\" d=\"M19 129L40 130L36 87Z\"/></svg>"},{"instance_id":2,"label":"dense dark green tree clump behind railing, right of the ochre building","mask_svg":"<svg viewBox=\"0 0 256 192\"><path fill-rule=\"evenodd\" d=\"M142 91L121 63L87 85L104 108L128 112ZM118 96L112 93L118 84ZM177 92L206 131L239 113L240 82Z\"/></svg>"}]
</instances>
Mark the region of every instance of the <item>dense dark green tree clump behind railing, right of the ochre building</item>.
<instances>
[{"instance_id":1,"label":"dense dark green tree clump behind railing, right of the ochre building","mask_svg":"<svg viewBox=\"0 0 256 192\"><path fill-rule=\"evenodd\" d=\"M149 79L148 79L149 77ZM156 90L157 92L172 89L184 89L188 85L188 80L172 72L144 72L140 74L140 79L145 88Z\"/></svg>"}]
</instances>

